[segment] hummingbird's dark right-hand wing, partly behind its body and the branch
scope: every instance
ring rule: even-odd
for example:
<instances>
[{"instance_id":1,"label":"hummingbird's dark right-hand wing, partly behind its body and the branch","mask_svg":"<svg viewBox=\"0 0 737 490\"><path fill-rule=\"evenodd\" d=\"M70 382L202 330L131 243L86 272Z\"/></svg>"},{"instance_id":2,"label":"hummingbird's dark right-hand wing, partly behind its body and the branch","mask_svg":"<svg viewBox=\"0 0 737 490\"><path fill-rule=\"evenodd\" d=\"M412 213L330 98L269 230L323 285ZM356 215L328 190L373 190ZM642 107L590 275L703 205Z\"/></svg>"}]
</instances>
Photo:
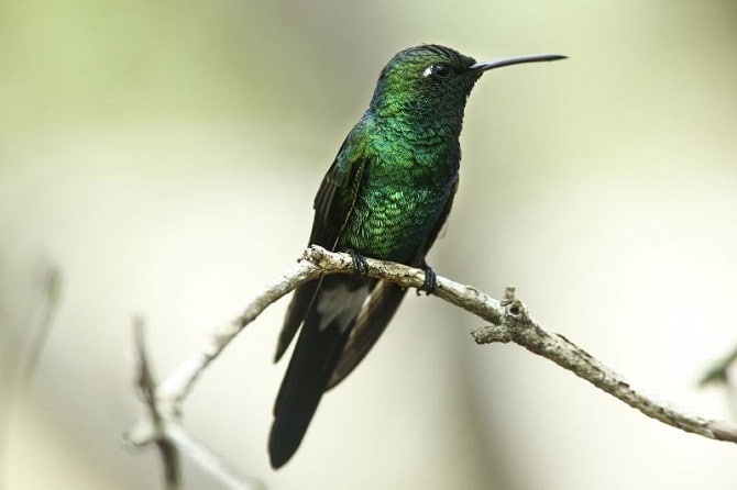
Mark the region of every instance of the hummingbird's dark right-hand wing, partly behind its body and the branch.
<instances>
[{"instance_id":1,"label":"hummingbird's dark right-hand wing, partly behind its body and the branch","mask_svg":"<svg viewBox=\"0 0 737 490\"><path fill-rule=\"evenodd\" d=\"M448 213L453 205L453 197L458 189L458 177L452 183L448 203L442 213L438 218L435 227L428 234L427 240L420 244L416 254L413 266L425 266L425 255L428 253L435 243L440 230L442 230ZM361 363L361 360L369 354L369 350L374 346L378 337L384 333L386 325L394 316L394 313L402 303L406 289L395 285L394 282L381 280L371 292L369 301L363 305L363 309L355 319L351 328L351 334L343 347L338 365L336 366L328 389L341 382L351 371Z\"/></svg>"}]
</instances>

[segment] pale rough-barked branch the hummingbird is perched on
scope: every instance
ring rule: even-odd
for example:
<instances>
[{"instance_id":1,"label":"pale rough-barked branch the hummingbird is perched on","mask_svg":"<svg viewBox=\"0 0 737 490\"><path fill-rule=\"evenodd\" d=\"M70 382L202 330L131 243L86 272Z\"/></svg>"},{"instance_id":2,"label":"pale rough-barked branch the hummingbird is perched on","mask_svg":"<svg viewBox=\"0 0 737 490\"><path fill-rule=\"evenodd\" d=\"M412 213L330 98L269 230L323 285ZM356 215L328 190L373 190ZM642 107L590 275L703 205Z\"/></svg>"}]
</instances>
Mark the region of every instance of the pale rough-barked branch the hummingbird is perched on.
<instances>
[{"instance_id":1,"label":"pale rough-barked branch the hummingbird is perched on","mask_svg":"<svg viewBox=\"0 0 737 490\"><path fill-rule=\"evenodd\" d=\"M425 281L425 271L420 269L371 258L367 258L366 263L369 265L367 276L372 278L386 279L405 288L420 288ZM164 430L168 426L168 420L178 420L182 403L200 374L233 337L270 304L299 285L321 275L352 271L353 264L349 254L331 253L318 246L308 247L296 267L256 296L240 316L227 325L216 327L208 335L204 345L156 388L155 405L158 413L167 420ZM531 320L525 305L515 298L514 289L508 288L504 301L498 301L470 286L440 276L437 279L438 288L433 291L433 296L492 324L472 332L476 343L514 342L571 370L595 387L660 422L704 437L737 443L737 425L686 414L669 403L636 391L624 377L604 366L585 350L562 335L542 328ZM140 431L135 437L138 444L156 439L153 428L146 432L145 427L145 424L139 424ZM170 435L168 437L172 438Z\"/></svg>"}]
</instances>

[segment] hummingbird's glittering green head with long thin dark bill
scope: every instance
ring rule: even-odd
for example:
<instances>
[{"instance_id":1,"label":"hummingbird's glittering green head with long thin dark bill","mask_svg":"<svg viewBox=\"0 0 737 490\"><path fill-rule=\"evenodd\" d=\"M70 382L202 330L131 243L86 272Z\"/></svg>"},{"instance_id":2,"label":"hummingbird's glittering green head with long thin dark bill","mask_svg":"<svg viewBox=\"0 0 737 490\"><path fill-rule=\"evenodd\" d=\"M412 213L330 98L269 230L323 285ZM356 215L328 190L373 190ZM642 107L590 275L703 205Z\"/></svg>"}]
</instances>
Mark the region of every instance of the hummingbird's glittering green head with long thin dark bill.
<instances>
[{"instance_id":1,"label":"hummingbird's glittering green head with long thin dark bill","mask_svg":"<svg viewBox=\"0 0 737 490\"><path fill-rule=\"evenodd\" d=\"M470 56L437 44L422 44L397 53L378 77L370 112L399 119L463 119L474 83L493 68L519 63L551 62L560 55L529 55L476 63Z\"/></svg>"}]
</instances>

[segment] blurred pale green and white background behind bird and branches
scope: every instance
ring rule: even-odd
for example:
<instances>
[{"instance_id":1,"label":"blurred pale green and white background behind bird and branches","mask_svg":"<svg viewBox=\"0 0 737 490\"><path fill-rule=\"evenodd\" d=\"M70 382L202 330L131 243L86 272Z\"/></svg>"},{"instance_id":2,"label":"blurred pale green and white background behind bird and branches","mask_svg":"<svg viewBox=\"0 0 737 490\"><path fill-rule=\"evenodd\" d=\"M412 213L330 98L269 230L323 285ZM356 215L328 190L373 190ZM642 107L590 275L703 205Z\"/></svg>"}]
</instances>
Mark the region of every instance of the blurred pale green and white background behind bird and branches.
<instances>
[{"instance_id":1,"label":"blurred pale green and white background behind bird and branches","mask_svg":"<svg viewBox=\"0 0 737 490\"><path fill-rule=\"evenodd\" d=\"M311 200L400 48L569 60L487 74L430 254L693 412L737 342L737 2L66 0L0 3L0 488L158 488L131 319L156 371L306 245ZM19 394L44 278L58 308ZM730 489L737 449L651 421L408 294L324 399L293 461L266 437L283 300L185 405L188 428L270 488ZM185 464L187 488L224 488Z\"/></svg>"}]
</instances>

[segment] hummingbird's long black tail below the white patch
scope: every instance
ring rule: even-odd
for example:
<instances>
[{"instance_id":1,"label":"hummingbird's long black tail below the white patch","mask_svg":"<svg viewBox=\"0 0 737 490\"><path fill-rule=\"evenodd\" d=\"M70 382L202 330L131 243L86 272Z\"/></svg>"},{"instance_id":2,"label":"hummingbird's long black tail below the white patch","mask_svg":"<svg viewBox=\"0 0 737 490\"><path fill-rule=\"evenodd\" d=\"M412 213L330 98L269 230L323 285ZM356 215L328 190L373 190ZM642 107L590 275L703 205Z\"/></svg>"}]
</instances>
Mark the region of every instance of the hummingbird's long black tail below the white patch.
<instances>
[{"instance_id":1,"label":"hummingbird's long black tail below the white patch","mask_svg":"<svg viewBox=\"0 0 737 490\"><path fill-rule=\"evenodd\" d=\"M320 331L319 315L310 310L274 404L268 438L274 468L288 461L299 447L348 339L349 331L341 333L334 322Z\"/></svg>"}]
</instances>

